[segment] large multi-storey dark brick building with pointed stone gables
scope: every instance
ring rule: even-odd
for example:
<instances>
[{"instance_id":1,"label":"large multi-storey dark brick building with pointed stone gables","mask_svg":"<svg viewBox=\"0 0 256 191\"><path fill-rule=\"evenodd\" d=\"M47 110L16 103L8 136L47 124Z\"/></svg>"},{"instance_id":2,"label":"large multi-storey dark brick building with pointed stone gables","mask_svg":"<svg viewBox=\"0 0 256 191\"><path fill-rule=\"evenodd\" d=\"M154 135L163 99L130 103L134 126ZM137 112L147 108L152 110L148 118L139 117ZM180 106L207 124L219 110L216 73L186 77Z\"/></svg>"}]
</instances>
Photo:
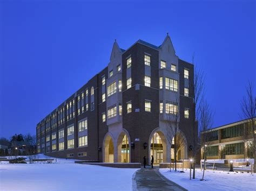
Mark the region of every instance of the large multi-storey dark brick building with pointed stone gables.
<instances>
[{"instance_id":1,"label":"large multi-storey dark brick building with pointed stone gables","mask_svg":"<svg viewBox=\"0 0 256 191\"><path fill-rule=\"evenodd\" d=\"M179 59L167 34L160 46L113 44L110 62L37 124L37 152L99 162L156 163L173 158L167 135L178 116L188 158L194 116L193 65Z\"/></svg>"}]
</instances>

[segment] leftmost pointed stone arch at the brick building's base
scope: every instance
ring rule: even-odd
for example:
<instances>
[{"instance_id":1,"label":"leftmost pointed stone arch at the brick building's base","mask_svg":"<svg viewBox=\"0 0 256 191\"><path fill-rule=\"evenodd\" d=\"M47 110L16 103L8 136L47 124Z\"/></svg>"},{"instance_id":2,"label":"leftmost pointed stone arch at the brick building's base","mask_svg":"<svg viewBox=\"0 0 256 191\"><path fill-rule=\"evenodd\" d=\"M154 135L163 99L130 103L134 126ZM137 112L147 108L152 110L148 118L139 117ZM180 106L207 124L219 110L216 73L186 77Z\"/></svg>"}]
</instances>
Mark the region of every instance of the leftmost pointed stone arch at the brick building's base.
<instances>
[{"instance_id":1,"label":"leftmost pointed stone arch at the brick building's base","mask_svg":"<svg viewBox=\"0 0 256 191\"><path fill-rule=\"evenodd\" d=\"M114 162L114 139L110 132L107 132L103 139L103 162Z\"/></svg>"}]
</instances>

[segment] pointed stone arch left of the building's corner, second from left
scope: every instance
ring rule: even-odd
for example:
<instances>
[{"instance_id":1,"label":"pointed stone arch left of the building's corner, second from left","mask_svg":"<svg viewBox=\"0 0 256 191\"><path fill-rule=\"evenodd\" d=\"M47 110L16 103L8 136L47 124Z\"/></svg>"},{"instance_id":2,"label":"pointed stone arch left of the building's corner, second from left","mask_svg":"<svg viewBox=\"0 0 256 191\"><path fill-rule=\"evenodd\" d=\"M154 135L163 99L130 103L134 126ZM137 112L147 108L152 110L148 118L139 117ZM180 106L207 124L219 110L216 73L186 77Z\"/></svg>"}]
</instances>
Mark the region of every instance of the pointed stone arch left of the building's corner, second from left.
<instances>
[{"instance_id":1,"label":"pointed stone arch left of the building's corner, second from left","mask_svg":"<svg viewBox=\"0 0 256 191\"><path fill-rule=\"evenodd\" d=\"M123 145L123 138L125 136L128 142L128 144L125 144L126 147ZM117 138L117 162L131 162L131 138L126 129L122 129Z\"/></svg>"}]
</instances>

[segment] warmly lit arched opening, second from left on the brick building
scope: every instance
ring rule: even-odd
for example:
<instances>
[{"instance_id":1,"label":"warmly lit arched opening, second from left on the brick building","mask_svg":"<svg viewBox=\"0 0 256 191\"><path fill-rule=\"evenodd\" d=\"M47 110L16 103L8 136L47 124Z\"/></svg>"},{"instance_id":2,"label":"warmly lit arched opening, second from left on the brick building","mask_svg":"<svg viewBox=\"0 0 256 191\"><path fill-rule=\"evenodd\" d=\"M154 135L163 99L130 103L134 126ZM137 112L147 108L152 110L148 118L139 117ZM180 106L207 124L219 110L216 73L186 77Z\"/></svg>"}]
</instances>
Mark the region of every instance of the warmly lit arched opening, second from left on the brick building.
<instances>
[{"instance_id":1,"label":"warmly lit arched opening, second from left on the brick building","mask_svg":"<svg viewBox=\"0 0 256 191\"><path fill-rule=\"evenodd\" d=\"M117 139L117 153L118 153L118 162L130 162L130 137L126 130L120 133Z\"/></svg>"}]
</instances>

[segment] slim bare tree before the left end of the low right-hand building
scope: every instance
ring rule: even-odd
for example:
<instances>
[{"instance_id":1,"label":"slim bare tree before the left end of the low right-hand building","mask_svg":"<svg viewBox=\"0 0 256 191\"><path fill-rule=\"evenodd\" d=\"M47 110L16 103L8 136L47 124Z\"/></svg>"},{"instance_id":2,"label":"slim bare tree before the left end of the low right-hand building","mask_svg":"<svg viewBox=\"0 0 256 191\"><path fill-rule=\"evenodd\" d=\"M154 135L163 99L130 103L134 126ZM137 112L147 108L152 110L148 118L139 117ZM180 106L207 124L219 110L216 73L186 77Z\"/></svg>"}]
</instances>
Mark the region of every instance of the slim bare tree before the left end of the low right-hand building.
<instances>
[{"instance_id":1,"label":"slim bare tree before the left end of the low right-hand building","mask_svg":"<svg viewBox=\"0 0 256 191\"><path fill-rule=\"evenodd\" d=\"M201 133L201 144L203 145L204 150L204 171L203 171L203 178L201 180L204 180L205 175L205 169L206 169L206 153L207 148L211 145L212 141L212 133L211 132L205 132L209 130L212 127L213 124L213 111L210 108L210 105L203 100L201 102L200 107L200 117L199 117L199 127Z\"/></svg>"}]
</instances>

